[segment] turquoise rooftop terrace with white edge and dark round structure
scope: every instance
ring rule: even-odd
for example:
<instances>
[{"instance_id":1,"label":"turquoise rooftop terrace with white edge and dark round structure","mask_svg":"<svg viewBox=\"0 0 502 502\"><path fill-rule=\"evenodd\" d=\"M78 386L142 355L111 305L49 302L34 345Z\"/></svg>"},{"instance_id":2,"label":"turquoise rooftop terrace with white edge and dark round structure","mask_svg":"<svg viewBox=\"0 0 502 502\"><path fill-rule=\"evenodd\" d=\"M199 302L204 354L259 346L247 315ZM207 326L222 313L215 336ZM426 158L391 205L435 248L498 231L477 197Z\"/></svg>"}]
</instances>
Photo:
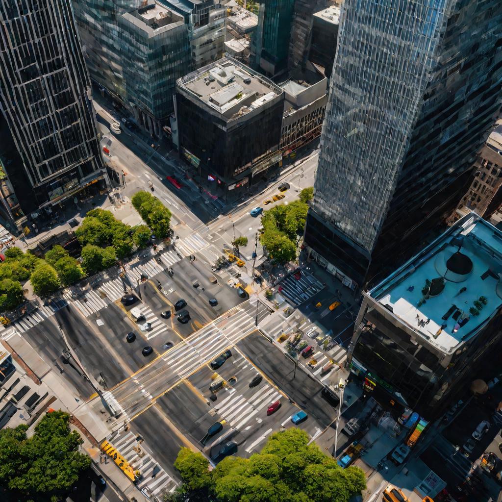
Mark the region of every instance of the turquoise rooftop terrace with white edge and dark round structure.
<instances>
[{"instance_id":1,"label":"turquoise rooftop terrace with white edge and dark round structure","mask_svg":"<svg viewBox=\"0 0 502 502\"><path fill-rule=\"evenodd\" d=\"M470 213L367 294L451 353L502 306L502 232Z\"/></svg>"}]
</instances>

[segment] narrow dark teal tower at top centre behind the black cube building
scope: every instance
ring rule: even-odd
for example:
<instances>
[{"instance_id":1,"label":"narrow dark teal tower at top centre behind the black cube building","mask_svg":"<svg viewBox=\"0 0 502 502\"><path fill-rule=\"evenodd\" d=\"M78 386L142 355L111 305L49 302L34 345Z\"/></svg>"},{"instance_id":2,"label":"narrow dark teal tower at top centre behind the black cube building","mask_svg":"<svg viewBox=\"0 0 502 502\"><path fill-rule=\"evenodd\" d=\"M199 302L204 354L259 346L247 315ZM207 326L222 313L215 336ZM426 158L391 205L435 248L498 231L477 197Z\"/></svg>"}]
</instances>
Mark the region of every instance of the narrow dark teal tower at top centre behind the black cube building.
<instances>
[{"instance_id":1,"label":"narrow dark teal tower at top centre behind the black cube building","mask_svg":"<svg viewBox=\"0 0 502 502\"><path fill-rule=\"evenodd\" d=\"M258 26L252 38L252 66L274 76L288 67L295 0L259 2Z\"/></svg>"}]
</instances>

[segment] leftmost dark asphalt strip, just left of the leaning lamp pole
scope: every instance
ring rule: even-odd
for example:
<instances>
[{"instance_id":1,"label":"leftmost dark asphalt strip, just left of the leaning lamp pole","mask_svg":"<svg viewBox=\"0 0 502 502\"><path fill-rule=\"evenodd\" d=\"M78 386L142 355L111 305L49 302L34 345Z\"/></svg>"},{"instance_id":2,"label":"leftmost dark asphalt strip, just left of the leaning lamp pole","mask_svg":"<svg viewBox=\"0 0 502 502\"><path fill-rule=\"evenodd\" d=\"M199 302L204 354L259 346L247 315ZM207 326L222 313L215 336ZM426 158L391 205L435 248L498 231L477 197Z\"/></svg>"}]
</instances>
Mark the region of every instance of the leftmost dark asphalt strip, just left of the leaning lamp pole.
<instances>
[{"instance_id":1,"label":"leftmost dark asphalt strip, just left of the leaning lamp pole","mask_svg":"<svg viewBox=\"0 0 502 502\"><path fill-rule=\"evenodd\" d=\"M63 370L61 376L75 389L81 399L87 400L94 394L94 389L82 378L78 366L71 359L68 361L62 356L66 350L66 345L52 318L46 319L25 331L23 336L56 372Z\"/></svg>"}]
</instances>

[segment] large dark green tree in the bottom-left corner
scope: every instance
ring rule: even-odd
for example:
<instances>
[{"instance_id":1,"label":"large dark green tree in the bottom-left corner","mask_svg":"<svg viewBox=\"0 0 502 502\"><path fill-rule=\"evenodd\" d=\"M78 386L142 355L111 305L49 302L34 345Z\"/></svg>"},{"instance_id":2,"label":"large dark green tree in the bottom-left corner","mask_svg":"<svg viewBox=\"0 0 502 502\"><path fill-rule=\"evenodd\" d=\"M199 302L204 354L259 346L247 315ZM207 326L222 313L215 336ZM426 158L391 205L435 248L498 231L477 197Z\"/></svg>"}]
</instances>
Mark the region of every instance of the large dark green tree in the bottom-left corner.
<instances>
[{"instance_id":1,"label":"large dark green tree in the bottom-left corner","mask_svg":"<svg viewBox=\"0 0 502 502\"><path fill-rule=\"evenodd\" d=\"M70 431L69 415L47 413L27 437L27 425L0 430L0 484L18 492L17 499L57 499L88 469L90 457L78 452L82 439Z\"/></svg>"}]
</instances>

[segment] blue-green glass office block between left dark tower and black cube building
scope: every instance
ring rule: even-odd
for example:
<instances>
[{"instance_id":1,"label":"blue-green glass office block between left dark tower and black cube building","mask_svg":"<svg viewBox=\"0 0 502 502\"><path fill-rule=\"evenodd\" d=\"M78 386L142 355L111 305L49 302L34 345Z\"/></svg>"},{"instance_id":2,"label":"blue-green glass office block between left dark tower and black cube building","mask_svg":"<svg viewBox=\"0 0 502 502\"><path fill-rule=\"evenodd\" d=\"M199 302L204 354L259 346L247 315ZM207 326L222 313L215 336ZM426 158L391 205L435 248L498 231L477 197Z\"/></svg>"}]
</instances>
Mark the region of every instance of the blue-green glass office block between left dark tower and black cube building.
<instances>
[{"instance_id":1,"label":"blue-green glass office block between left dark tower and black cube building","mask_svg":"<svg viewBox=\"0 0 502 502\"><path fill-rule=\"evenodd\" d=\"M162 136L176 80L192 69L183 16L156 0L74 2L91 79L148 132Z\"/></svg>"}]
</instances>

